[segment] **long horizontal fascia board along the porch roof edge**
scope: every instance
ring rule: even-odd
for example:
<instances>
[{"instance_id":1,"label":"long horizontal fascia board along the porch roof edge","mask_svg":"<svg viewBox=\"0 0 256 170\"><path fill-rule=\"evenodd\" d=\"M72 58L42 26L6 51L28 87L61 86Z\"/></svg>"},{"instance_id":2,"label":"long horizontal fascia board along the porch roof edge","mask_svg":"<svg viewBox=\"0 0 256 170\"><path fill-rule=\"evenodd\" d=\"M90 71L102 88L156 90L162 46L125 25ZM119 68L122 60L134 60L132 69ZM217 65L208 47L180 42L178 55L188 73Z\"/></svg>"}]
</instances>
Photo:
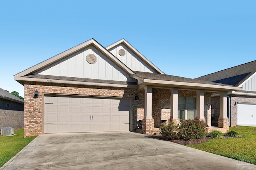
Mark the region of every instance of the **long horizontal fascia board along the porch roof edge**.
<instances>
[{"instance_id":1,"label":"long horizontal fascia board along the porch roof edge","mask_svg":"<svg viewBox=\"0 0 256 170\"><path fill-rule=\"evenodd\" d=\"M230 86L222 86L222 85L215 85L215 84L201 84L201 83L190 83L190 82L174 82L174 81L166 81L166 80L151 80L151 79L144 79L144 84L165 84L165 85L176 85L176 86L190 86L196 88L216 88L221 90L242 90L240 87L230 87Z\"/></svg>"}]
</instances>

